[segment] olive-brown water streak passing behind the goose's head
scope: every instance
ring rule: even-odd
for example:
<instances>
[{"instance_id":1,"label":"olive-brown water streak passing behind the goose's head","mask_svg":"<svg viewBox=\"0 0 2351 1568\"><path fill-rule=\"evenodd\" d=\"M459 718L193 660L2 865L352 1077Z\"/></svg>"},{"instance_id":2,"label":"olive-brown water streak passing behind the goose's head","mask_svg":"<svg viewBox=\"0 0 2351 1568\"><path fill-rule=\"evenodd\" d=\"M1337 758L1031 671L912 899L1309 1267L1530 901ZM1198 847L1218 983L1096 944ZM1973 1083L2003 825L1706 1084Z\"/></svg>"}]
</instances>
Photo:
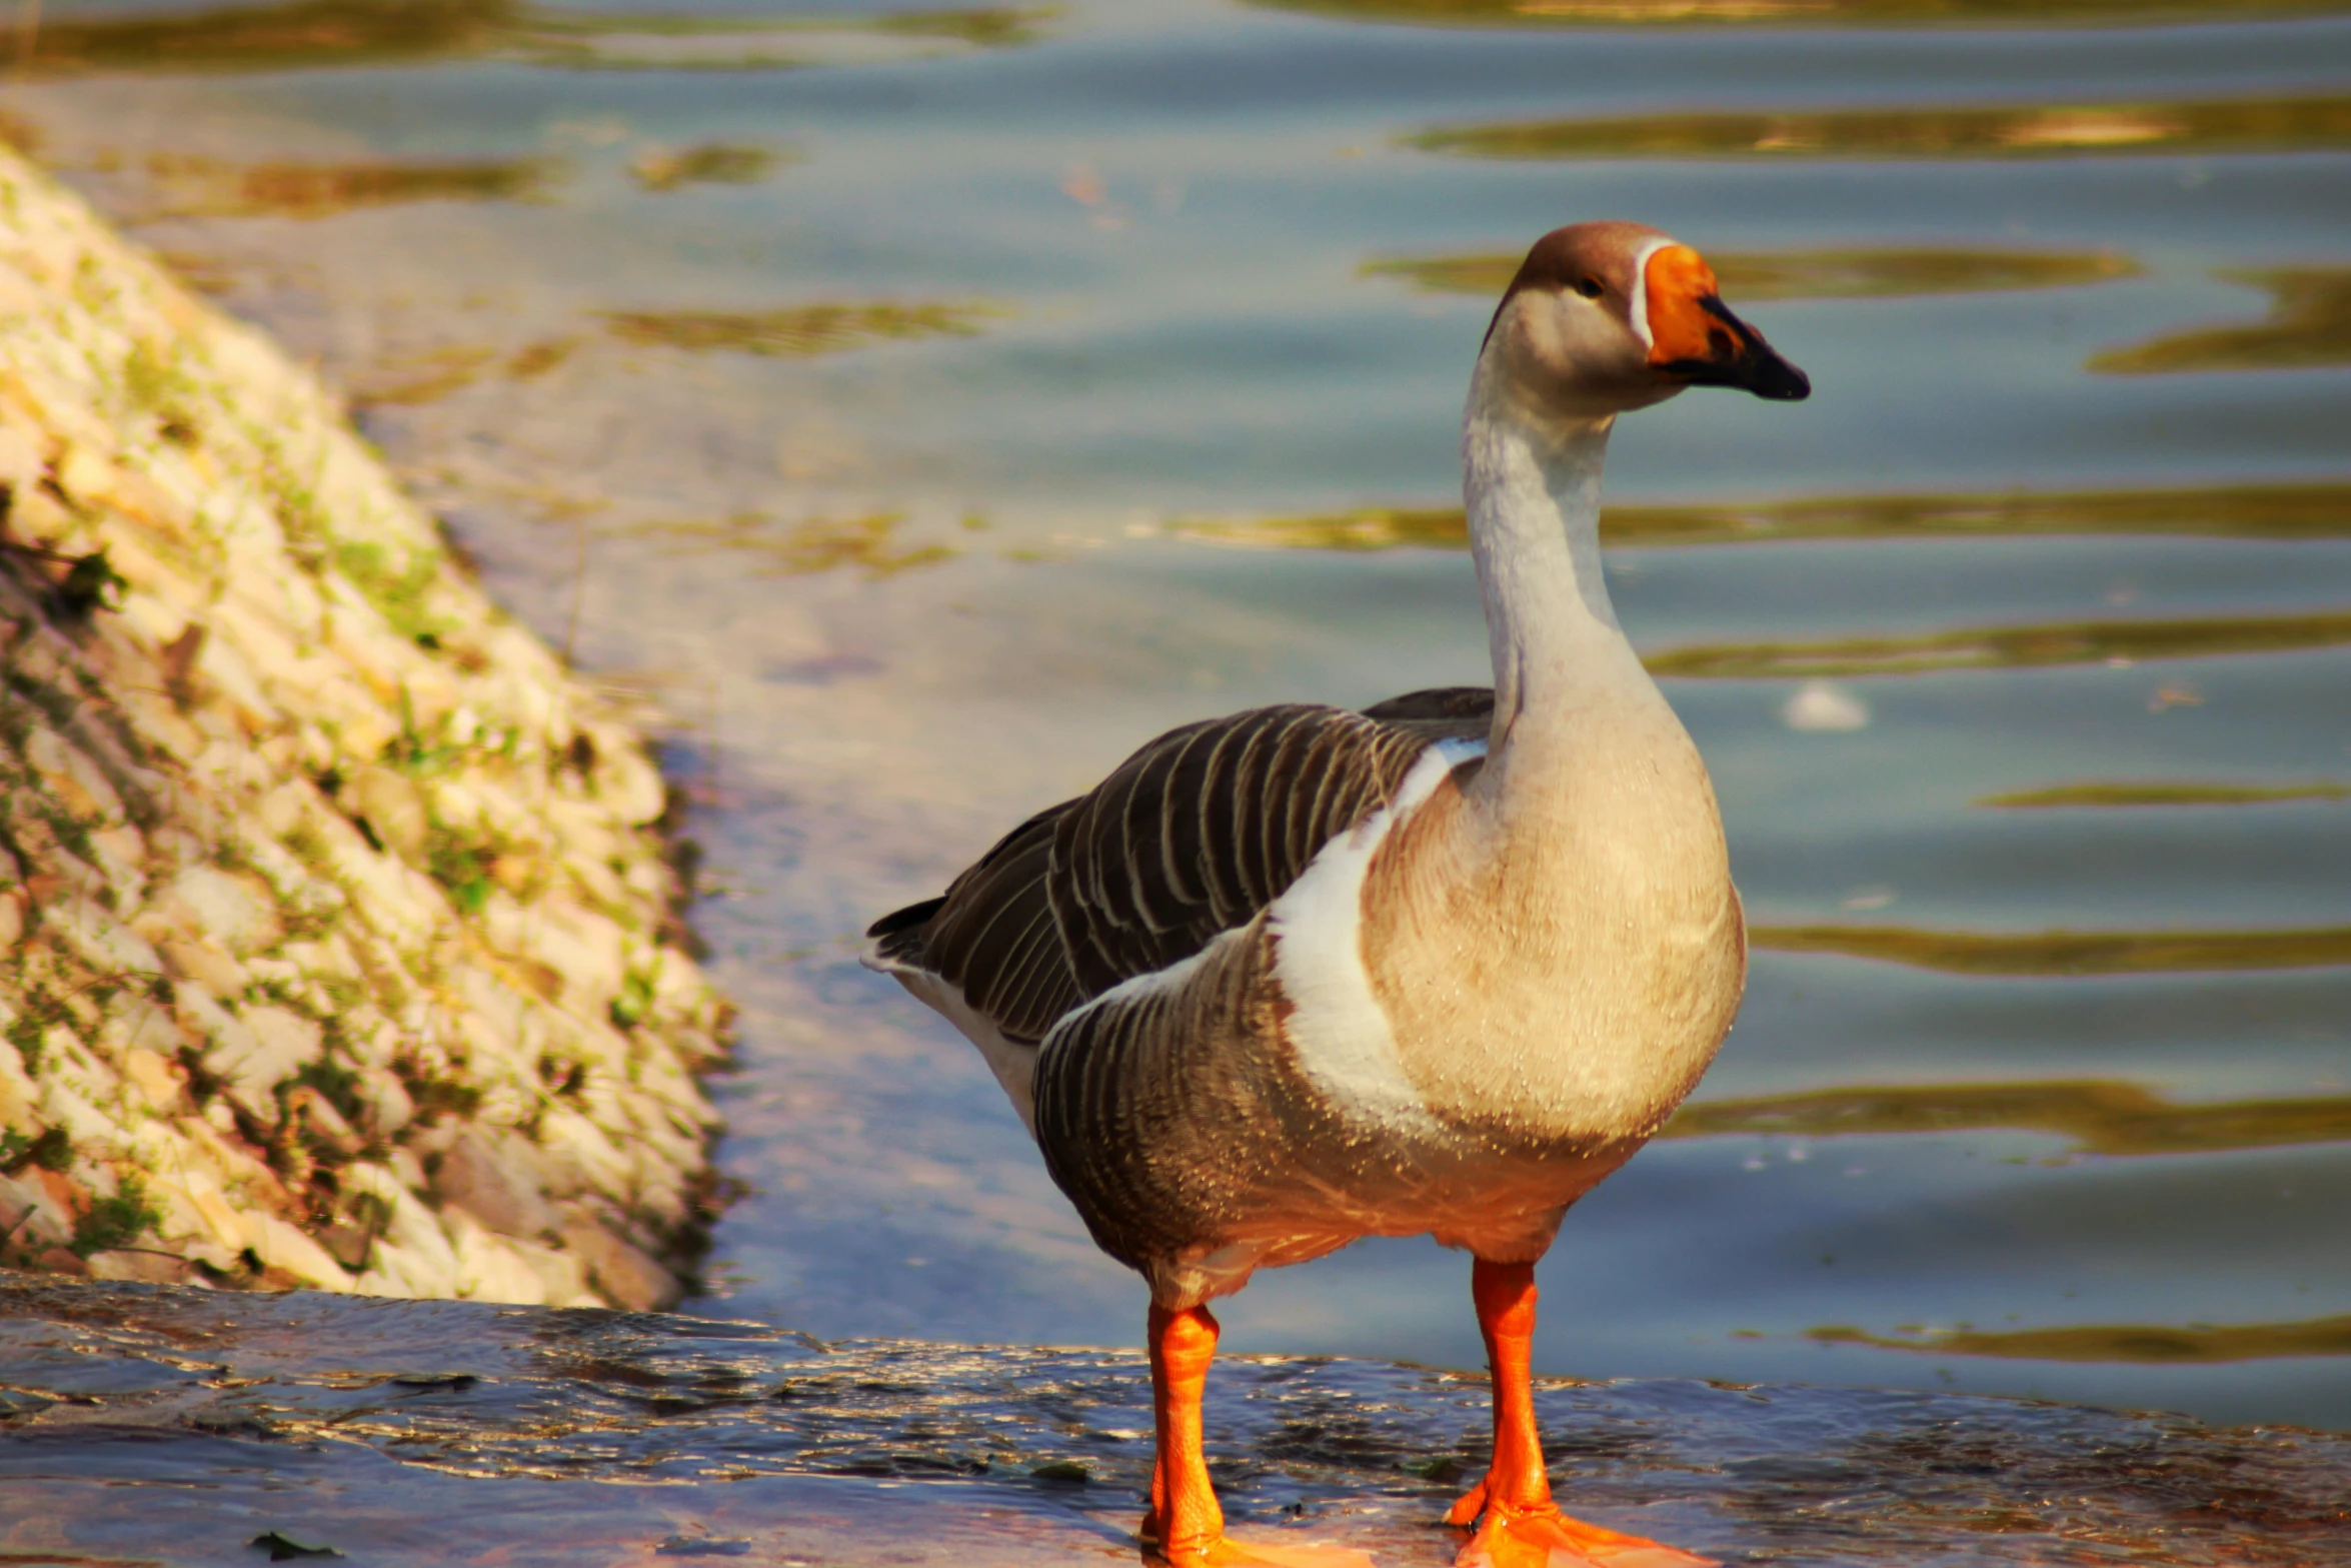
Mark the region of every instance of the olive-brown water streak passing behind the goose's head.
<instances>
[{"instance_id":1,"label":"olive-brown water streak passing behind the goose's head","mask_svg":"<svg viewBox=\"0 0 2351 1568\"><path fill-rule=\"evenodd\" d=\"M1364 277L1404 277L1427 294L1500 294L1523 254L1382 256L1357 268ZM1902 299L1914 294L1994 294L2069 289L2137 277L2139 263L2111 252L1984 249L1827 249L1707 254L1723 294L1768 299Z\"/></svg>"}]
</instances>

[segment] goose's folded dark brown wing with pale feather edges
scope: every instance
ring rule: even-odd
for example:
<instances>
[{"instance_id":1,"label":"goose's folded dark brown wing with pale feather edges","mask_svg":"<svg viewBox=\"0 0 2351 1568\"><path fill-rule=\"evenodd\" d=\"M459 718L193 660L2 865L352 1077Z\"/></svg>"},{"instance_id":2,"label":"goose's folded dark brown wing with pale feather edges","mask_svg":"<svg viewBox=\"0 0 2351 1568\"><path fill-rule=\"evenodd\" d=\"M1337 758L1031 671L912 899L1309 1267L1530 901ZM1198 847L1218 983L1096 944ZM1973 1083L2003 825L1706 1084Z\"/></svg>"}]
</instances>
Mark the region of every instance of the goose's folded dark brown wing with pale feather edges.
<instances>
[{"instance_id":1,"label":"goose's folded dark brown wing with pale feather edges","mask_svg":"<svg viewBox=\"0 0 2351 1568\"><path fill-rule=\"evenodd\" d=\"M1251 922L1387 804L1427 745L1481 736L1491 715L1491 691L1451 686L1171 729L1091 795L1013 827L943 898L875 922L875 957L936 973L1009 1039L1039 1041L1081 1001Z\"/></svg>"}]
</instances>

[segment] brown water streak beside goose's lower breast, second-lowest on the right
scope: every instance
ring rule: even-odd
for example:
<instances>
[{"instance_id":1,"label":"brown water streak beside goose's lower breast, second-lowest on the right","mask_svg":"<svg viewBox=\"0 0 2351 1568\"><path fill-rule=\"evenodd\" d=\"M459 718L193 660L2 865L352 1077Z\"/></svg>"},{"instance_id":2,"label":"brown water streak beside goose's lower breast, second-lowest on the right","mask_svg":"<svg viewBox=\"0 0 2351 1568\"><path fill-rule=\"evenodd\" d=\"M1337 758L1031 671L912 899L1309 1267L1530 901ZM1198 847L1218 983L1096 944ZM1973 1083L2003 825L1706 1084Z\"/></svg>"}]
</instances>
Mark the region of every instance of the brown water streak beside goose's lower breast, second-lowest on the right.
<instances>
[{"instance_id":1,"label":"brown water streak beside goose's lower breast, second-lowest on the right","mask_svg":"<svg viewBox=\"0 0 2351 1568\"><path fill-rule=\"evenodd\" d=\"M2276 1150L2351 1140L2351 1095L2172 1105L2137 1084L2106 1079L1815 1088L1683 1105L1657 1135L1843 1138L1984 1128L2055 1133L2069 1138L2081 1154Z\"/></svg>"}]
</instances>

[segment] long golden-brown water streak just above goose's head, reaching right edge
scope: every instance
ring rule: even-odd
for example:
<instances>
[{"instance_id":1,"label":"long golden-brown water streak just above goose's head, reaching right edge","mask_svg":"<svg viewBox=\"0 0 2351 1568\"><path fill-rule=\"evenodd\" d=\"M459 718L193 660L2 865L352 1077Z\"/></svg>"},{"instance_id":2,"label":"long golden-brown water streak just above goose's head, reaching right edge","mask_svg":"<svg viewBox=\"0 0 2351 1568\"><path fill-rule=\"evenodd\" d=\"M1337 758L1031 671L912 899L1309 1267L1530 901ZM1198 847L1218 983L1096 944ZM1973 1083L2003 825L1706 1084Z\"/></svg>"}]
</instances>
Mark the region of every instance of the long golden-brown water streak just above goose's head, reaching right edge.
<instances>
[{"instance_id":1,"label":"long golden-brown water streak just above goose's head, reaching right edge","mask_svg":"<svg viewBox=\"0 0 2351 1568\"><path fill-rule=\"evenodd\" d=\"M2083 158L2351 146L2351 96L1829 108L1455 125L1404 146L1455 158Z\"/></svg>"}]
</instances>

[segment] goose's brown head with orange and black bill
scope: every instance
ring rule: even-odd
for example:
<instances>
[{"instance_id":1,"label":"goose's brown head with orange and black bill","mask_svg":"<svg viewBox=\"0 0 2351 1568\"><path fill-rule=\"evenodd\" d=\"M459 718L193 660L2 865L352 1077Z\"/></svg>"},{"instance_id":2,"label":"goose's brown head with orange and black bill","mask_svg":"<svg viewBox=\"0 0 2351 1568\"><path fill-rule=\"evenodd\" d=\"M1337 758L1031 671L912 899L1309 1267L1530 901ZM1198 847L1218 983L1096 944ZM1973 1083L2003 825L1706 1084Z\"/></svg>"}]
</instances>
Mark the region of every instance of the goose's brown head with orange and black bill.
<instances>
[{"instance_id":1,"label":"goose's brown head with orange and black bill","mask_svg":"<svg viewBox=\"0 0 2351 1568\"><path fill-rule=\"evenodd\" d=\"M1643 223L1573 223L1535 240L1479 353L1479 393L1535 423L1599 421L1690 386L1782 402L1813 393L1730 315L1704 259Z\"/></svg>"}]
</instances>

